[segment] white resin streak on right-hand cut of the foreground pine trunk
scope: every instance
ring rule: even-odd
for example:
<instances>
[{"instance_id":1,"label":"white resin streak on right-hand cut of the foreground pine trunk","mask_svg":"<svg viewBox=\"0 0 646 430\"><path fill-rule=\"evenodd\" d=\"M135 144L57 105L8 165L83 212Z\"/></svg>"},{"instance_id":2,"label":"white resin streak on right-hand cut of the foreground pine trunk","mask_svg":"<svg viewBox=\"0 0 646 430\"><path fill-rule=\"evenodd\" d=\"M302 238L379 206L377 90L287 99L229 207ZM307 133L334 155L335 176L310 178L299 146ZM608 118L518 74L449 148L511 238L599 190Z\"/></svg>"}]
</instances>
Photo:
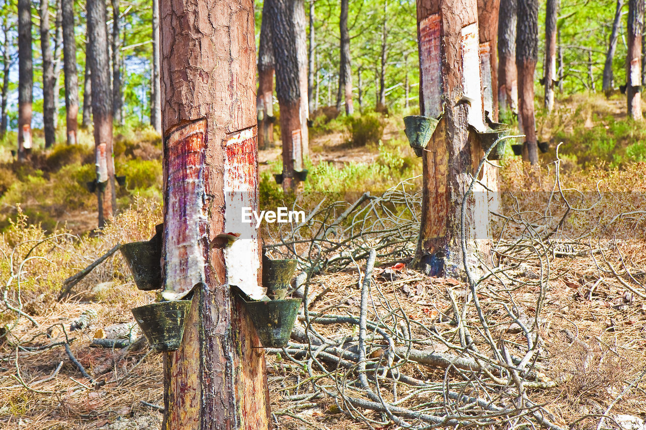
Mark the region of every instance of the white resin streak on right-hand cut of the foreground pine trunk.
<instances>
[{"instance_id":1,"label":"white resin streak on right-hand cut of the foreground pine trunk","mask_svg":"<svg viewBox=\"0 0 646 430\"><path fill-rule=\"evenodd\" d=\"M247 139L253 139L253 128L247 128L229 136L226 147L241 145ZM225 151L228 154L228 151ZM224 201L225 232L240 233L240 239L224 249L224 261L227 267L227 282L236 285L254 300L264 296L264 289L258 285L260 259L258 247L260 238L253 223L242 223L242 208L251 207L258 210L257 177L247 178L246 174L255 172L247 165L240 165L236 159L224 160ZM241 230L244 231L235 231Z\"/></svg>"}]
</instances>

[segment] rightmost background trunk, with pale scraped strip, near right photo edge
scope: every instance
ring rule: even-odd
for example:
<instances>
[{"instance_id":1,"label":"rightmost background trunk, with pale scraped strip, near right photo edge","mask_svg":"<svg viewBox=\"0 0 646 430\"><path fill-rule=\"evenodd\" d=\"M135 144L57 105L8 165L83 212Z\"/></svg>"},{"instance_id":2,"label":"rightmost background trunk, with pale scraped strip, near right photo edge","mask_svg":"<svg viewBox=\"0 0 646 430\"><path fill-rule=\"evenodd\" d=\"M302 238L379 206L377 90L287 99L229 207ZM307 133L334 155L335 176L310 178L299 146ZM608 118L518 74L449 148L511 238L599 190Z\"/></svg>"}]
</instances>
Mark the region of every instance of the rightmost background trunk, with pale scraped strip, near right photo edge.
<instances>
[{"instance_id":1,"label":"rightmost background trunk, with pale scraped strip, near right photo edge","mask_svg":"<svg viewBox=\"0 0 646 430\"><path fill-rule=\"evenodd\" d=\"M629 118L639 121L641 120L641 32L643 24L644 0L629 0L626 96Z\"/></svg>"}]
</instances>

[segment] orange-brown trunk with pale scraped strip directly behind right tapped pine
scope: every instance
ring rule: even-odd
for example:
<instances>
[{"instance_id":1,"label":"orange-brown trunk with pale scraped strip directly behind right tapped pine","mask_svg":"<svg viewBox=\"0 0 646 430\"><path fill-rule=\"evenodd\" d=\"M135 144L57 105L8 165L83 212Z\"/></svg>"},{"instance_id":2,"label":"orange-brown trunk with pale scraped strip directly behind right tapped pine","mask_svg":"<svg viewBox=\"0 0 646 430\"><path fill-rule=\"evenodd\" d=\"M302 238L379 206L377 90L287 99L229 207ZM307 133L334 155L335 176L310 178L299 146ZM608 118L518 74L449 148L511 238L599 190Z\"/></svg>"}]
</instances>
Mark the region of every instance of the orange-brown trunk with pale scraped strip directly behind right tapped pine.
<instances>
[{"instance_id":1,"label":"orange-brown trunk with pale scraped strip directly behind right tapped pine","mask_svg":"<svg viewBox=\"0 0 646 430\"><path fill-rule=\"evenodd\" d=\"M498 11L500 0L477 0L480 38L480 70L485 112L498 119ZM491 166L490 166L491 167Z\"/></svg>"}]
</instances>

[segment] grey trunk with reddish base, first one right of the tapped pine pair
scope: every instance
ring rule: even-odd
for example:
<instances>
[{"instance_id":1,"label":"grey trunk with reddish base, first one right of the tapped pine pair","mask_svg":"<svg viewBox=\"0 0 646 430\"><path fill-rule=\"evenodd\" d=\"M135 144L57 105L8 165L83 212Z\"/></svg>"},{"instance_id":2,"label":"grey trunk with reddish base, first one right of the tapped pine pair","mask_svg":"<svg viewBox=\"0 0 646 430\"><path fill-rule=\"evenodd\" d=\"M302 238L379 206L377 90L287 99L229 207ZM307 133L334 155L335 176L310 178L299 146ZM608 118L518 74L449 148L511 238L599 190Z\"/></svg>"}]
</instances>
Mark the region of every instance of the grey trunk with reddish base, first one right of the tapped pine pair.
<instances>
[{"instance_id":1,"label":"grey trunk with reddish base, first one right of the tapped pine pair","mask_svg":"<svg viewBox=\"0 0 646 430\"><path fill-rule=\"evenodd\" d=\"M498 20L498 103L499 110L518 112L516 73L517 0L501 0Z\"/></svg>"}]
</instances>

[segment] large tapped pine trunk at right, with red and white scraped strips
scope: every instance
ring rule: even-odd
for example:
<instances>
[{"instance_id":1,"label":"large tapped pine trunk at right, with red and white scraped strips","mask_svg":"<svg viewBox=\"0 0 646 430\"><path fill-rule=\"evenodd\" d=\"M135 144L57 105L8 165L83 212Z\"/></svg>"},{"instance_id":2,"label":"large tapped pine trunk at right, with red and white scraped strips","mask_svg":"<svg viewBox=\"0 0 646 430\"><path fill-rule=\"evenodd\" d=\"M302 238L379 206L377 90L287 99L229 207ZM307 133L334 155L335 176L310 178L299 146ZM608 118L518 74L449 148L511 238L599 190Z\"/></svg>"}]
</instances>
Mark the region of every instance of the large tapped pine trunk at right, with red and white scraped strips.
<instances>
[{"instance_id":1,"label":"large tapped pine trunk at right, with red and white scraped strips","mask_svg":"<svg viewBox=\"0 0 646 430\"><path fill-rule=\"evenodd\" d=\"M461 276L461 202L483 155L469 126L485 128L476 0L418 0L417 23L422 115L442 117L422 155L415 260L431 276ZM468 197L465 221L467 258L475 267L490 248L486 192Z\"/></svg>"}]
</instances>

